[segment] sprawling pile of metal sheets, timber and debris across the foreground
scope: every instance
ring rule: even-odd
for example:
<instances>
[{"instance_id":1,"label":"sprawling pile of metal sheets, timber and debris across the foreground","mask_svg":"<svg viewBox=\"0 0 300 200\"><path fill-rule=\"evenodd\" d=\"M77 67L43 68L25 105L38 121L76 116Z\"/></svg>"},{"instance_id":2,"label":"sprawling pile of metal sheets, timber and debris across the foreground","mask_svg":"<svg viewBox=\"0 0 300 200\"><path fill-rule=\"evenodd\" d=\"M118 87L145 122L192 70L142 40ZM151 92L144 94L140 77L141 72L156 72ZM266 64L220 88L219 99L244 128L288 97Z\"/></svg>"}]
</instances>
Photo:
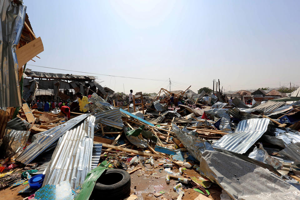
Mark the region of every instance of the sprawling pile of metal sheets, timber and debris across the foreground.
<instances>
[{"instance_id":1,"label":"sprawling pile of metal sheets, timber and debris across the foreground","mask_svg":"<svg viewBox=\"0 0 300 200\"><path fill-rule=\"evenodd\" d=\"M198 199L215 199L211 185L227 199L299 198L300 101L250 108L238 98L222 103L213 94L178 97L178 107L168 107L167 97L134 112L133 105L115 108L94 93L89 113L67 122L27 104L14 119L14 108L1 110L0 186L13 189L37 176L42 181L36 187L31 183L20 192L42 199L47 188L63 191L66 199L114 199L101 185L113 178L110 168L119 168L166 179L153 187L153 199L189 197L191 189ZM130 177L125 182L118 197L143 199Z\"/></svg>"}]
</instances>

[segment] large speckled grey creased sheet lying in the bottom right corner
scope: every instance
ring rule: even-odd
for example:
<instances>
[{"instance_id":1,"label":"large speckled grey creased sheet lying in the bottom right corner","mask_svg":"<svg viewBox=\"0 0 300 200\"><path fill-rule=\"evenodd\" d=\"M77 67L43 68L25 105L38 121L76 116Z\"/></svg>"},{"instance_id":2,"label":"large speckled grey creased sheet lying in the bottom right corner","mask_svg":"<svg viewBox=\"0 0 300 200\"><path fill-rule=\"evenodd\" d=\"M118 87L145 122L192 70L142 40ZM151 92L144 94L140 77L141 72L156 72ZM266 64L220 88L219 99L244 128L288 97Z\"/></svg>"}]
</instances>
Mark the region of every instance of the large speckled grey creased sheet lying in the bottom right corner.
<instances>
[{"instance_id":1,"label":"large speckled grey creased sheet lying in the bottom right corner","mask_svg":"<svg viewBox=\"0 0 300 200\"><path fill-rule=\"evenodd\" d=\"M226 153L205 151L201 173L235 200L297 200L300 191L267 169Z\"/></svg>"}]
</instances>

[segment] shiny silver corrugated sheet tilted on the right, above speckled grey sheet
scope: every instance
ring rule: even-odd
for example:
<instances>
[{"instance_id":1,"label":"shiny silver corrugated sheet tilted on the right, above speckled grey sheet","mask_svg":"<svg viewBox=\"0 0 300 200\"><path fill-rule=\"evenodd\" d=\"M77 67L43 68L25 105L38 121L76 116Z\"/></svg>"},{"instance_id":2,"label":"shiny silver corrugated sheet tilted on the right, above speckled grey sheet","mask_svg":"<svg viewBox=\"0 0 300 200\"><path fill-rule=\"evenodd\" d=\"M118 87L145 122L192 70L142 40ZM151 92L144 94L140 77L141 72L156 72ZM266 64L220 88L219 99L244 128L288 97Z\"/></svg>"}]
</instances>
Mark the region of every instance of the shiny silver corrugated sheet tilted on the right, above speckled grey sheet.
<instances>
[{"instance_id":1,"label":"shiny silver corrugated sheet tilted on the right, above speckled grey sheet","mask_svg":"<svg viewBox=\"0 0 300 200\"><path fill-rule=\"evenodd\" d=\"M245 153L267 131L269 122L268 118L242 120L234 133L224 135L213 147Z\"/></svg>"}]
</instances>

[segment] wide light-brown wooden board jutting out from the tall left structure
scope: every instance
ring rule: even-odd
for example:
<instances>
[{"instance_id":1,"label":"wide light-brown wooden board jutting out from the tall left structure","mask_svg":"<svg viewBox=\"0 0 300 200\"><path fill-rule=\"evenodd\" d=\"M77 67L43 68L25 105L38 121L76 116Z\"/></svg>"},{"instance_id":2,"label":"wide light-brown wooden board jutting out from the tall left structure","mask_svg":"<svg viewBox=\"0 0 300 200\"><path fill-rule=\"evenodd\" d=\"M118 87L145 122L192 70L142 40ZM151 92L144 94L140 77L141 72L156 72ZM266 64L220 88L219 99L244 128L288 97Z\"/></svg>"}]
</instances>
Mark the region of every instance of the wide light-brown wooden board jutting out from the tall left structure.
<instances>
[{"instance_id":1,"label":"wide light-brown wooden board jutting out from the tall left structure","mask_svg":"<svg viewBox=\"0 0 300 200\"><path fill-rule=\"evenodd\" d=\"M25 63L34 58L37 54L44 51L43 42L41 37L25 44L24 46L16 50L19 69L22 68Z\"/></svg>"}]
</instances>

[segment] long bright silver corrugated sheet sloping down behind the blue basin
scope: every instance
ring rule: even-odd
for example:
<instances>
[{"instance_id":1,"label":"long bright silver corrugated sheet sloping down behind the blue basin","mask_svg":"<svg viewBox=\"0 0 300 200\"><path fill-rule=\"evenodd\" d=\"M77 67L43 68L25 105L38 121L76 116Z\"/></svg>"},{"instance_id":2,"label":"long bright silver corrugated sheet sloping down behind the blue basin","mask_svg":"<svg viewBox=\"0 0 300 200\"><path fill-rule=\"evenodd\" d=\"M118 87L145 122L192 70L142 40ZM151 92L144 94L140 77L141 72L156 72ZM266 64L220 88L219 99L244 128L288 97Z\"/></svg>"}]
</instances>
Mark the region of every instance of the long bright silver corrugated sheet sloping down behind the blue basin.
<instances>
[{"instance_id":1,"label":"long bright silver corrugated sheet sloping down behind the blue basin","mask_svg":"<svg viewBox=\"0 0 300 200\"><path fill-rule=\"evenodd\" d=\"M91 171L95 117L89 116L67 131L58 141L51 161L45 169L43 186L69 181L72 188L80 186Z\"/></svg>"}]
</instances>

